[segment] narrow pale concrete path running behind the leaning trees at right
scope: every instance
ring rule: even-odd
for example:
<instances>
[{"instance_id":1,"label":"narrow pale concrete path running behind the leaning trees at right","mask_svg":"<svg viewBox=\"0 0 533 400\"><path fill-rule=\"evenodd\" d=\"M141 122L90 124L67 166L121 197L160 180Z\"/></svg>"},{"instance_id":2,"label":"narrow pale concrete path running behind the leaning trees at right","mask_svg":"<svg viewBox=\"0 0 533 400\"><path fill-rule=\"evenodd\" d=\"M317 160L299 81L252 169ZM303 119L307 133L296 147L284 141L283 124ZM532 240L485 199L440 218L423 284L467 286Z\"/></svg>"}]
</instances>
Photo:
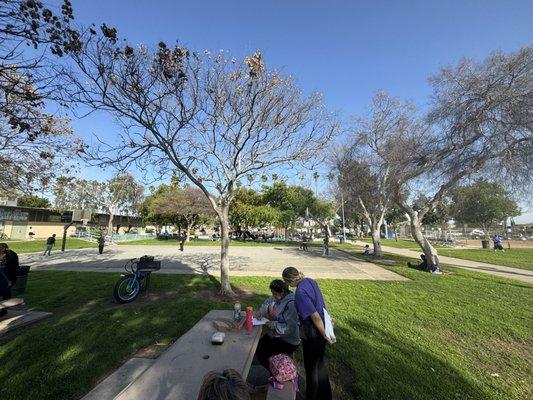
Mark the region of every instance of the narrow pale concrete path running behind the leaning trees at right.
<instances>
[{"instance_id":1,"label":"narrow pale concrete path running behind the leaning trees at right","mask_svg":"<svg viewBox=\"0 0 533 400\"><path fill-rule=\"evenodd\" d=\"M356 241L356 245L364 246L368 243ZM384 252L398 254L400 256L420 258L420 250L398 249L396 247L381 246ZM504 267L502 265L487 264L479 261L463 260L460 258L439 256L441 264L453 265L460 268L471 269L484 274L501 276L503 278L516 279L522 282L533 283L533 271L527 269Z\"/></svg>"}]
</instances>

